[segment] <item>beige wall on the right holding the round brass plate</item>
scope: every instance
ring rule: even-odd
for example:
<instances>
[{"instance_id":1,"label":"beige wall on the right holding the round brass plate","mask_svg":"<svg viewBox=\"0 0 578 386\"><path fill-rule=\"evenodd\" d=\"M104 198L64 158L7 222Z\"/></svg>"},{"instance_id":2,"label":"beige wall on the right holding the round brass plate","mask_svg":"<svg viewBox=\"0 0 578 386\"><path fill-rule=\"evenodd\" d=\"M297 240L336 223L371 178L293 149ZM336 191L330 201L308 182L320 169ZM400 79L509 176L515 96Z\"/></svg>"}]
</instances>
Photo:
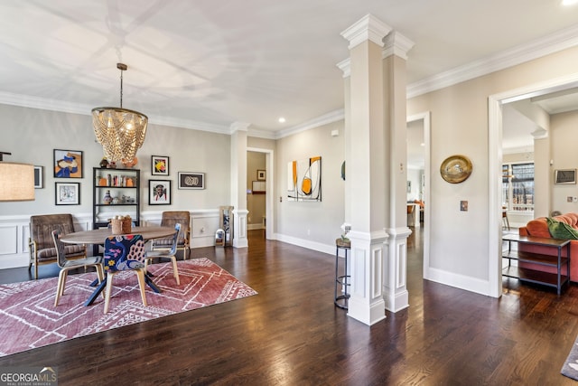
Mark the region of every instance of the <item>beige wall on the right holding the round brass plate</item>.
<instances>
[{"instance_id":1,"label":"beige wall on the right holding the round brass plate","mask_svg":"<svg viewBox=\"0 0 578 386\"><path fill-rule=\"evenodd\" d=\"M411 59L410 59L411 60ZM498 71L408 100L408 115L431 112L430 268L466 282L489 279L489 125L488 97L575 73L578 48ZM448 155L471 158L473 173L462 184L448 184L439 165ZM469 211L460 211L460 201ZM469 278L469 279L465 279Z\"/></svg>"}]
</instances>

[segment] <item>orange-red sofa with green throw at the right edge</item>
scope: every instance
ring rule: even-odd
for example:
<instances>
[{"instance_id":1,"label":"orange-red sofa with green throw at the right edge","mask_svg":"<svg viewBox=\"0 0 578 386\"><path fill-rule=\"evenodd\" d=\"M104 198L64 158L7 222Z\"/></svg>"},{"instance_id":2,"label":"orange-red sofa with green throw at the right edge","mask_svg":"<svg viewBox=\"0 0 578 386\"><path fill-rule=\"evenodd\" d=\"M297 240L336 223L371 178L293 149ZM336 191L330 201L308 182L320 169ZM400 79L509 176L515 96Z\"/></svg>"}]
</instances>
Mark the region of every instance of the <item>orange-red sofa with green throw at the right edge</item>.
<instances>
[{"instance_id":1,"label":"orange-red sofa with green throw at the right edge","mask_svg":"<svg viewBox=\"0 0 578 386\"><path fill-rule=\"evenodd\" d=\"M565 213L553 217L555 221L565 222L573 229L578 231L578 213ZM528 221L525 227L519 229L520 236L533 236L551 239L550 231L548 231L548 223L545 217L538 217L537 219ZM520 244L520 250L527 252L543 253L545 255L555 255L555 249L544 248L536 245ZM554 267L544 267L531 263L520 262L520 267L532 268L542 270L545 272L555 273ZM570 240L570 281L578 283L578 240Z\"/></svg>"}]
</instances>

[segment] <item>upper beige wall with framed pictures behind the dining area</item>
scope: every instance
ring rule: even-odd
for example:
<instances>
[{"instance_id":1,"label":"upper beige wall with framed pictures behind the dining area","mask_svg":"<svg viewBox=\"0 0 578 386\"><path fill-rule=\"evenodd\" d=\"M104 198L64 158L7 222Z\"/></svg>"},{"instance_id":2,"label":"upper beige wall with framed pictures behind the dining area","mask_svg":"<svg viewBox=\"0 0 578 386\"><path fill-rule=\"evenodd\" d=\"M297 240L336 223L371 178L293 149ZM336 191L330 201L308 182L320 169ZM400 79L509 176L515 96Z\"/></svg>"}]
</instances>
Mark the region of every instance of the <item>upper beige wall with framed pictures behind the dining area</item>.
<instances>
[{"instance_id":1,"label":"upper beige wall with framed pictures behind the dining area","mask_svg":"<svg viewBox=\"0 0 578 386\"><path fill-rule=\"evenodd\" d=\"M44 166L44 188L36 189L33 202L0 202L0 215L43 213L92 213L92 168L102 159L102 146L94 137L90 116L0 105L0 151L11 152L5 161ZM53 149L83 152L80 205L54 202ZM169 156L169 175L151 175L151 155ZM141 170L141 212L177 209L215 209L229 204L230 137L184 128L149 125L144 146L138 151ZM179 190L178 172L205 173L204 190ZM172 205L148 205L149 180L172 181ZM70 180L71 181L71 180ZM223 188L225 187L225 189Z\"/></svg>"}]
</instances>

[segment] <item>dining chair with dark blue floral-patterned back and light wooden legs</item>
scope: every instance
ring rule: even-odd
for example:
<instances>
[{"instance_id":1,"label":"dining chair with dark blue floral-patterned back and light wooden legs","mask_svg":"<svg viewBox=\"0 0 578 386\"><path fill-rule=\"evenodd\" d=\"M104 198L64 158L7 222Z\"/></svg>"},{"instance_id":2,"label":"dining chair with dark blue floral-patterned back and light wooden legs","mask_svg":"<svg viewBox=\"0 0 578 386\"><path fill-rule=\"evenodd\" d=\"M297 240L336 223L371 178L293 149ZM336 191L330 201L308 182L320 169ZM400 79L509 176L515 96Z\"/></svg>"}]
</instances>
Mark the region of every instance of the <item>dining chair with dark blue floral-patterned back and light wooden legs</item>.
<instances>
[{"instance_id":1,"label":"dining chair with dark blue floral-patterned back and light wooden legs","mask_svg":"<svg viewBox=\"0 0 578 386\"><path fill-rule=\"evenodd\" d=\"M146 306L146 294L144 293L144 240L140 234L125 234L108 236L105 240L105 255L103 261L107 273L107 289L105 291L105 314L110 306L110 294L112 292L112 280L114 276L124 270L134 270L138 278L143 304Z\"/></svg>"}]
</instances>

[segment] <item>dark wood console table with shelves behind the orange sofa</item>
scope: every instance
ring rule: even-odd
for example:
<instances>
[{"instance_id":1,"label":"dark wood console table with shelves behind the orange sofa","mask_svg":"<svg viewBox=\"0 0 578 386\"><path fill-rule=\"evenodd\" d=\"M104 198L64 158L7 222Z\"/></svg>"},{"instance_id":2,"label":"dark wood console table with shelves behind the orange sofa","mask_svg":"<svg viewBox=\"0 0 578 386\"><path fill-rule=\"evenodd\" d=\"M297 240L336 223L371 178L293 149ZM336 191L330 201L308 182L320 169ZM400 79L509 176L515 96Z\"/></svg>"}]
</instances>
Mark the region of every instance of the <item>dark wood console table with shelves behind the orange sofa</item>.
<instances>
[{"instance_id":1,"label":"dark wood console table with shelves behind the orange sofa","mask_svg":"<svg viewBox=\"0 0 578 386\"><path fill-rule=\"evenodd\" d=\"M502 269L502 276L518 278L521 281L555 287L560 295L562 286L570 284L570 240L545 239L517 234L504 235L502 240L508 241L508 250L502 252L502 258L508 259L508 267ZM512 250L512 242L536 245L543 249L554 249L553 254ZM555 254L554 254L555 253ZM538 269L515 267L511 260L532 263L537 266L555 268L556 273L544 272Z\"/></svg>"}]
</instances>

